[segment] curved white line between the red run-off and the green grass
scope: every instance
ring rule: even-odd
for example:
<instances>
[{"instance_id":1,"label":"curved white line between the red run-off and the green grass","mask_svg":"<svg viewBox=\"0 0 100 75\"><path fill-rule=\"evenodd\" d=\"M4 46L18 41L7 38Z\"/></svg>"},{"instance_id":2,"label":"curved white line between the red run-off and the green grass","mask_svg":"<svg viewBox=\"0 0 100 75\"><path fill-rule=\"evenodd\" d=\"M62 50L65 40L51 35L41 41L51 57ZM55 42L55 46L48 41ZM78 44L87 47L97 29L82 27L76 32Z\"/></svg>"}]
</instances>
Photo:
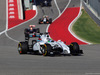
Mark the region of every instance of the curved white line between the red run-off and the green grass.
<instances>
[{"instance_id":1,"label":"curved white line between the red run-off and the green grass","mask_svg":"<svg viewBox=\"0 0 100 75\"><path fill-rule=\"evenodd\" d=\"M91 43L89 43L89 42L87 42L87 41L84 41L84 40L82 40L81 38L79 38L79 37L78 37L77 35L75 35L75 33L71 30L73 24L76 22L76 20L77 20L77 19L80 17L80 15L82 14L81 9L82 9L82 0L80 1L80 11L79 11L79 14L78 14L78 16L70 23L70 25L69 25L69 27L68 27L68 30L69 30L69 32L70 32L75 38L77 38L78 40L80 40L80 41L82 41L82 42L85 42L85 43L88 43L88 44L91 44Z\"/></svg>"}]
</instances>

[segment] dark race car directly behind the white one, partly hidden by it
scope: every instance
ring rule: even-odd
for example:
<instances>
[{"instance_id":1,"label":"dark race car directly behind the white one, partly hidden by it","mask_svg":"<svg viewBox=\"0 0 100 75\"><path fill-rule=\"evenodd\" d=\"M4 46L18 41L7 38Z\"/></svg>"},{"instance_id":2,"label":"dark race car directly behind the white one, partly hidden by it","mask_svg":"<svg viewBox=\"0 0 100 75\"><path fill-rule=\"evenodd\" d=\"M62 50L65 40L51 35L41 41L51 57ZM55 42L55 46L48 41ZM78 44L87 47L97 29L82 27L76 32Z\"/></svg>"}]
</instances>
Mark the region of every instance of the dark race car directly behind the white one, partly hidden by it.
<instances>
[{"instance_id":1,"label":"dark race car directly behind the white one, partly hidden by it","mask_svg":"<svg viewBox=\"0 0 100 75\"><path fill-rule=\"evenodd\" d=\"M29 28L26 28L24 30L24 34L25 34L25 40L28 40L29 38L32 37L39 37L40 29L35 28L35 25L29 25Z\"/></svg>"}]
</instances>

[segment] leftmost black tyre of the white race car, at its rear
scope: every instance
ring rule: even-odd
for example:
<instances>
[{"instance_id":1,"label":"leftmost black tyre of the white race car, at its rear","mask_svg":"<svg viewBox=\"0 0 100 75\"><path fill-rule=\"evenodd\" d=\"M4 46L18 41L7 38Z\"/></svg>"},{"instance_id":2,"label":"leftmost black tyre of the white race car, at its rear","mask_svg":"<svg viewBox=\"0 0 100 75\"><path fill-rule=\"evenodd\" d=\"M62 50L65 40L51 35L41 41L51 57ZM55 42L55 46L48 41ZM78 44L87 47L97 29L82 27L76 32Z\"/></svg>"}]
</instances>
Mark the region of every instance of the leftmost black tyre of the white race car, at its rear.
<instances>
[{"instance_id":1,"label":"leftmost black tyre of the white race car, at its rear","mask_svg":"<svg viewBox=\"0 0 100 75\"><path fill-rule=\"evenodd\" d=\"M19 54L27 54L28 51L28 42L20 42L18 44L18 52Z\"/></svg>"}]
</instances>

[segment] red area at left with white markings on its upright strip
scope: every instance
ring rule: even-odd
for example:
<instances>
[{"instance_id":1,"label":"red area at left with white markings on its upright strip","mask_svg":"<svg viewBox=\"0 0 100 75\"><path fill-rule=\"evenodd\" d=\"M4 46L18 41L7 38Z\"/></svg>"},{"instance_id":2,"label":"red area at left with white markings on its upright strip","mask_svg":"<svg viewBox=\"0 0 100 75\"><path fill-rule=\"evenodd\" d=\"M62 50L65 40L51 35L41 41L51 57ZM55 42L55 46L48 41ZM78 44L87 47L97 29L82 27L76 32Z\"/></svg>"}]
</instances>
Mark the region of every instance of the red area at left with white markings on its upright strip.
<instances>
[{"instance_id":1,"label":"red area at left with white markings on its upright strip","mask_svg":"<svg viewBox=\"0 0 100 75\"><path fill-rule=\"evenodd\" d=\"M27 10L25 11L25 19L20 20L18 19L18 6L17 0L8 0L8 29L15 27L25 21L32 19L36 15L36 10ZM21 10L20 10L21 11Z\"/></svg>"}]
</instances>

